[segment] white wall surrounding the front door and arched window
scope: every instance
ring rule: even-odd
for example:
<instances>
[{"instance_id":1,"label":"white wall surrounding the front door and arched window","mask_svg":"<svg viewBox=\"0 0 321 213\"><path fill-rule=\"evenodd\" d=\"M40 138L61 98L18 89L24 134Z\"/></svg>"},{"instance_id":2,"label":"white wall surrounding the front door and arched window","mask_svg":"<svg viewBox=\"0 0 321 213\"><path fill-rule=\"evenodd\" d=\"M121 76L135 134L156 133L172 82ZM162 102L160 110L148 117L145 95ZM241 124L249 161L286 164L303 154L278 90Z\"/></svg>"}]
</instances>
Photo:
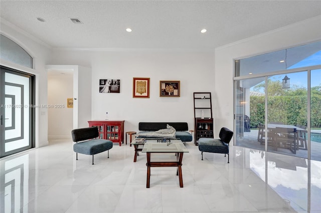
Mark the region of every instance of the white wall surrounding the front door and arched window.
<instances>
[{"instance_id":1,"label":"white wall surrounding the front door and arched window","mask_svg":"<svg viewBox=\"0 0 321 213\"><path fill-rule=\"evenodd\" d=\"M22 46L33 58L34 68L26 68L9 61L1 60L2 65L36 75L36 104L47 104L47 72L45 65L51 55L51 48L24 32L20 28L1 19L0 32ZM48 110L36 108L36 147L48 144Z\"/></svg>"}]
</instances>

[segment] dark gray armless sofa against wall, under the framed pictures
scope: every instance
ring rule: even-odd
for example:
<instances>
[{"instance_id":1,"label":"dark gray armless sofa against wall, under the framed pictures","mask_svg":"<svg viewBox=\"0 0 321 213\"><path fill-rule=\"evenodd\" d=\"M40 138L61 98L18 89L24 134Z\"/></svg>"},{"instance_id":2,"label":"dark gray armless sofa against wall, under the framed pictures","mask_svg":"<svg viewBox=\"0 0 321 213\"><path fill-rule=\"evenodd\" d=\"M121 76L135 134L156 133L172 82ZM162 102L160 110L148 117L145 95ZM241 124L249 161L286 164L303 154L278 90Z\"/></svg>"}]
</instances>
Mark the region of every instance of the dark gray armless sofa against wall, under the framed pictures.
<instances>
[{"instance_id":1,"label":"dark gray armless sofa against wall, under the framed pictures","mask_svg":"<svg viewBox=\"0 0 321 213\"><path fill-rule=\"evenodd\" d=\"M139 122L138 129L139 132L157 131L166 128L167 124L175 128L175 137L181 139L182 142L185 143L193 140L192 134L188 132L189 126L187 122ZM137 133L138 135L139 132Z\"/></svg>"}]
</instances>

